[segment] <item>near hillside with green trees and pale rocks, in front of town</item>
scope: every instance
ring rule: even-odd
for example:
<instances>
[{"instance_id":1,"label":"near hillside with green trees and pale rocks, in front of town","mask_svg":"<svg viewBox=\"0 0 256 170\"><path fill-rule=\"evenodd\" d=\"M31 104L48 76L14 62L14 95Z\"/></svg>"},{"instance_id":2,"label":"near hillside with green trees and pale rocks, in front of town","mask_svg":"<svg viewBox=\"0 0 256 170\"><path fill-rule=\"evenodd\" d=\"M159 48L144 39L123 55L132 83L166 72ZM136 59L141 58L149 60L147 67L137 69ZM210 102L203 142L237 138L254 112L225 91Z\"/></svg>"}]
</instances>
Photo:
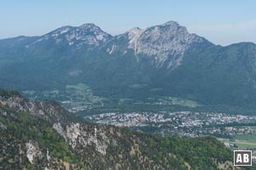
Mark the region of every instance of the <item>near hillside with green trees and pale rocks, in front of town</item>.
<instances>
[{"instance_id":1,"label":"near hillside with green trees and pale rocks, in front of town","mask_svg":"<svg viewBox=\"0 0 256 170\"><path fill-rule=\"evenodd\" d=\"M96 125L14 91L0 90L0 133L0 169L235 169L232 151L217 139Z\"/></svg>"}]
</instances>

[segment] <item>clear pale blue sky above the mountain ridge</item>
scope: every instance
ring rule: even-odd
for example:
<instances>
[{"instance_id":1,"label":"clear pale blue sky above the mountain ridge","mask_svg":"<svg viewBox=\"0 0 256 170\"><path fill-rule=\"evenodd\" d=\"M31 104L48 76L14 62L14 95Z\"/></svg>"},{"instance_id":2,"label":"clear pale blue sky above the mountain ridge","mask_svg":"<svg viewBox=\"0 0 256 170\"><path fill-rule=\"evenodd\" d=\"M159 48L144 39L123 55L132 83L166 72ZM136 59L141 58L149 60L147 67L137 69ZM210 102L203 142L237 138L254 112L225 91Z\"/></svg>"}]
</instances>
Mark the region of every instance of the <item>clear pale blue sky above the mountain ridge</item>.
<instances>
[{"instance_id":1,"label":"clear pale blue sky above the mountain ridge","mask_svg":"<svg viewBox=\"0 0 256 170\"><path fill-rule=\"evenodd\" d=\"M94 23L117 35L170 20L209 41L256 42L255 0L1 0L0 38Z\"/></svg>"}]
</instances>

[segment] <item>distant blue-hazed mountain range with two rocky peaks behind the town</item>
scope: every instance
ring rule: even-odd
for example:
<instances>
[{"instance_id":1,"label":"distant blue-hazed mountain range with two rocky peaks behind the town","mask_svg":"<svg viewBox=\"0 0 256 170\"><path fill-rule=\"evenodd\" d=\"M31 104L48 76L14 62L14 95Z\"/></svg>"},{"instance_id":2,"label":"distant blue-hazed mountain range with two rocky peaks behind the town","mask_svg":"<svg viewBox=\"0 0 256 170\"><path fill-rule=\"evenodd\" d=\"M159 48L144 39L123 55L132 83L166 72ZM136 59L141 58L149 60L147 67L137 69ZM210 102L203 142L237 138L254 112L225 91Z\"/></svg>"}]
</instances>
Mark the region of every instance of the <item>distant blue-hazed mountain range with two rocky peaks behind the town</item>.
<instances>
[{"instance_id":1,"label":"distant blue-hazed mountain range with two rocky peaks behind the town","mask_svg":"<svg viewBox=\"0 0 256 170\"><path fill-rule=\"evenodd\" d=\"M254 43L222 47L175 21L114 37L85 24L0 40L0 87L33 92L32 97L57 90L57 97L48 97L63 99L67 85L82 83L107 99L104 105L171 96L254 114L255 81Z\"/></svg>"}]
</instances>

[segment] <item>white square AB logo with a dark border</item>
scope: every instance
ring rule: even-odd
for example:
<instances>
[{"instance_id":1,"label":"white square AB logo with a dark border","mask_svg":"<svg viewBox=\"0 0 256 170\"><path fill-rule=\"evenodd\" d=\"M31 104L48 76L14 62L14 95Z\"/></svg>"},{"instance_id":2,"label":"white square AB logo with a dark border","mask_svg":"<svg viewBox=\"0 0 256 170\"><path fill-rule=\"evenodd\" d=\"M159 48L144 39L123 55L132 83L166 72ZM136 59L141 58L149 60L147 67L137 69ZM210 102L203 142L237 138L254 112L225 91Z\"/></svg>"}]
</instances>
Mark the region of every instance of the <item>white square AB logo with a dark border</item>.
<instances>
[{"instance_id":1,"label":"white square AB logo with a dark border","mask_svg":"<svg viewBox=\"0 0 256 170\"><path fill-rule=\"evenodd\" d=\"M252 166L252 150L234 150L234 166Z\"/></svg>"}]
</instances>

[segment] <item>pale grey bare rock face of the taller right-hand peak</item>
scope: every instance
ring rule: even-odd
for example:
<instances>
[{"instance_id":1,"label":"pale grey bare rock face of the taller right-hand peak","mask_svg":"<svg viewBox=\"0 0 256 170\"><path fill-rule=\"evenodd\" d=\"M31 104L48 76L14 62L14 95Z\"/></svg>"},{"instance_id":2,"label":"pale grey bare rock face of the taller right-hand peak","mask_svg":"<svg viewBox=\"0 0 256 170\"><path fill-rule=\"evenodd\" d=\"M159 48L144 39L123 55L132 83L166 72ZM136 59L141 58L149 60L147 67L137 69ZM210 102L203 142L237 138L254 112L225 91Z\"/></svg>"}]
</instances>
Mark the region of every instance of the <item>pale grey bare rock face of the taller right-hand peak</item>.
<instances>
[{"instance_id":1,"label":"pale grey bare rock face of the taller right-hand peak","mask_svg":"<svg viewBox=\"0 0 256 170\"><path fill-rule=\"evenodd\" d=\"M181 65L184 52L193 43L204 41L204 38L190 34L186 27L170 21L138 32L135 40L131 41L130 47L134 48L136 54L154 56L158 65L162 65L168 58L172 57L169 59L171 60L170 67Z\"/></svg>"}]
</instances>

